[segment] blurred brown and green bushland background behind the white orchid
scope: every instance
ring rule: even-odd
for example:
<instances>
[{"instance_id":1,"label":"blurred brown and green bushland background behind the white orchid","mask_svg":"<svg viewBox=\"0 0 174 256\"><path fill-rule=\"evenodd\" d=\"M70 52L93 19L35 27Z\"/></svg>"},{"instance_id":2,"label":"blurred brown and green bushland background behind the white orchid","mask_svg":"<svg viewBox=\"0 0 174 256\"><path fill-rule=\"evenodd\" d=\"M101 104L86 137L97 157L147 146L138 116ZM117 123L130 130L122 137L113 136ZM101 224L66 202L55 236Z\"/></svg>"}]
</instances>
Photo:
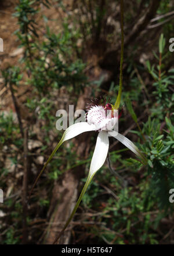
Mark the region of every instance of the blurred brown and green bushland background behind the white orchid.
<instances>
[{"instance_id":1,"label":"blurred brown and green bushland background behind the white orchid","mask_svg":"<svg viewBox=\"0 0 174 256\"><path fill-rule=\"evenodd\" d=\"M0 1L1 244L52 244L86 181L96 132L64 143L56 111L115 103L121 48L117 0ZM61 244L174 243L174 1L124 1L119 132ZM171 197L170 197L171 196Z\"/></svg>"}]
</instances>

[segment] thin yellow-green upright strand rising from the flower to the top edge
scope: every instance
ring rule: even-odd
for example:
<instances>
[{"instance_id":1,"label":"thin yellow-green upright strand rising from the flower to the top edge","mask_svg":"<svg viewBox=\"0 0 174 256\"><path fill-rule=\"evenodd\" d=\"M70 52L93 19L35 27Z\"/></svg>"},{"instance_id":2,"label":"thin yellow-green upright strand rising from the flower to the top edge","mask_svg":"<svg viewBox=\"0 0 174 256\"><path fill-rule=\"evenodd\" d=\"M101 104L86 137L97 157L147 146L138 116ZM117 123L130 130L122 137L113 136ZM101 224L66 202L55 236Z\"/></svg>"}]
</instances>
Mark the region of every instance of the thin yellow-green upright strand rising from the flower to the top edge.
<instances>
[{"instance_id":1,"label":"thin yellow-green upright strand rising from the flower to the top edge","mask_svg":"<svg viewBox=\"0 0 174 256\"><path fill-rule=\"evenodd\" d=\"M124 60L124 0L120 1L121 9L121 57L120 57L120 67L119 67L119 90L117 100L114 105L114 109L119 108L122 92L122 65Z\"/></svg>"}]
</instances>

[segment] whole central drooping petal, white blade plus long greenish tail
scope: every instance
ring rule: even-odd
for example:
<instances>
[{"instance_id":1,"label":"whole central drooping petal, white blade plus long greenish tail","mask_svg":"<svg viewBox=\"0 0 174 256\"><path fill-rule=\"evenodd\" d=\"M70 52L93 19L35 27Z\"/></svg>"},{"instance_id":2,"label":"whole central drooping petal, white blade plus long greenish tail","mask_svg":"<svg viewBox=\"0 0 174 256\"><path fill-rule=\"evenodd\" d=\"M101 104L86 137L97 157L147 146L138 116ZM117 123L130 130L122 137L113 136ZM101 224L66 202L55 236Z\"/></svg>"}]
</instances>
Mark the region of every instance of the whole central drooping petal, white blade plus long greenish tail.
<instances>
[{"instance_id":1,"label":"whole central drooping petal, white blade plus long greenish tail","mask_svg":"<svg viewBox=\"0 0 174 256\"><path fill-rule=\"evenodd\" d=\"M68 224L70 223L71 219L73 219L75 212L77 211L78 205L81 202L86 189L88 188L90 182L92 181L93 176L96 174L96 172L102 167L104 164L107 153L108 153L108 146L109 146L109 140L108 140L108 134L106 131L99 132L99 135L97 136L97 142L95 146L95 151L92 156L92 161L90 163L90 169L89 169L89 175L88 179L85 183L84 188L82 189L82 192L79 196L79 199L77 203L75 204L75 207L73 209L73 212L70 215L70 218L68 218L66 224L64 225L64 228L61 230L59 236L56 238L55 242L56 243L60 236L63 234L64 230L67 228Z\"/></svg>"}]
</instances>

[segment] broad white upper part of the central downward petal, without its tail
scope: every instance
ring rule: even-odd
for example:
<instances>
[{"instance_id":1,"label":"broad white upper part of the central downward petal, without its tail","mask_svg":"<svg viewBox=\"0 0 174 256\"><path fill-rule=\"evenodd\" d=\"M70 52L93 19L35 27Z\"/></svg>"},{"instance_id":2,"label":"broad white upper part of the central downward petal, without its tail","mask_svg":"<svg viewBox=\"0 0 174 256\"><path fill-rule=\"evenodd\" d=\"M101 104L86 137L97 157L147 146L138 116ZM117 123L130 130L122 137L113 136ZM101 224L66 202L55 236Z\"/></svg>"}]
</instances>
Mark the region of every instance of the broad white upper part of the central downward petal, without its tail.
<instances>
[{"instance_id":1,"label":"broad white upper part of the central downward petal, without its tail","mask_svg":"<svg viewBox=\"0 0 174 256\"><path fill-rule=\"evenodd\" d=\"M107 131L99 132L97 136L97 142L95 146L95 151L93 152L92 160L89 168L89 175L94 175L104 164L107 153L108 153L108 134Z\"/></svg>"}]
</instances>

